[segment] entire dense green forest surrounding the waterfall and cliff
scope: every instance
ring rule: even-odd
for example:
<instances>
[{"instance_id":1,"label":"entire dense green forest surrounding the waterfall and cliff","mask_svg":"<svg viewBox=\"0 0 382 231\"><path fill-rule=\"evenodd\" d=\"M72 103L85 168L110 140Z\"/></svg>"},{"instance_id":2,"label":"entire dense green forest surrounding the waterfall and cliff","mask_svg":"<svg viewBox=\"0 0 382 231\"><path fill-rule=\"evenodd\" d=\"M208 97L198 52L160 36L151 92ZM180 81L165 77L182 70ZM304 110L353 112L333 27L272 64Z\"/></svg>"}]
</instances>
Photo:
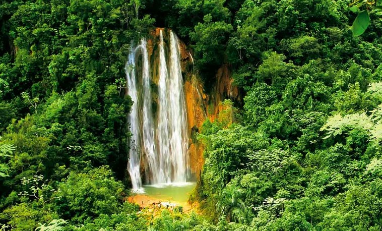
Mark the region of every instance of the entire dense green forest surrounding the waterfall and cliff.
<instances>
[{"instance_id":1,"label":"entire dense green forest surrounding the waterfall and cliff","mask_svg":"<svg viewBox=\"0 0 382 231\"><path fill-rule=\"evenodd\" d=\"M0 228L380 230L382 15L354 36L350 4L2 0ZM226 65L243 96L199 129L203 216L124 202L124 68L154 27L193 50L207 91Z\"/></svg>"}]
</instances>

